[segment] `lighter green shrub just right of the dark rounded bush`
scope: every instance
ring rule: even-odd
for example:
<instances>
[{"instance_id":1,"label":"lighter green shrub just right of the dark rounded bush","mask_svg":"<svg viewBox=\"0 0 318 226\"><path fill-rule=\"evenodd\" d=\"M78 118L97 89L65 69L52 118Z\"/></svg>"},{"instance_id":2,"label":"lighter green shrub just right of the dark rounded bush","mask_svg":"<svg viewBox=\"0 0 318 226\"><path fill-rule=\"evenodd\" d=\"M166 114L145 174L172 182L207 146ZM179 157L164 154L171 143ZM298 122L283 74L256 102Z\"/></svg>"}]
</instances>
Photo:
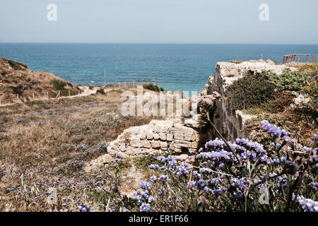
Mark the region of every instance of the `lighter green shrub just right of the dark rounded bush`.
<instances>
[{"instance_id":1,"label":"lighter green shrub just right of the dark rounded bush","mask_svg":"<svg viewBox=\"0 0 318 226\"><path fill-rule=\"evenodd\" d=\"M299 71L285 69L281 75L265 73L266 79L275 84L280 90L300 91L307 81L307 74Z\"/></svg>"}]
</instances>

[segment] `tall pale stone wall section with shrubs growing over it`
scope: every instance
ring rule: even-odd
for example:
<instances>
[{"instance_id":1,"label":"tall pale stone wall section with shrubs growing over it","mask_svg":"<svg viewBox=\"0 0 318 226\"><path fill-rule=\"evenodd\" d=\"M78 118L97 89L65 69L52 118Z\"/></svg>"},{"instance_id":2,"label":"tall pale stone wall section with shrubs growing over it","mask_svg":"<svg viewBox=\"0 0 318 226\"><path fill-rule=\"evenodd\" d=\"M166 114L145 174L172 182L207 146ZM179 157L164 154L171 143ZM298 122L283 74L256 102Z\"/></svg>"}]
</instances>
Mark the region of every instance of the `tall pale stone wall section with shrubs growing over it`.
<instances>
[{"instance_id":1,"label":"tall pale stone wall section with shrubs growing over it","mask_svg":"<svg viewBox=\"0 0 318 226\"><path fill-rule=\"evenodd\" d=\"M248 73L257 74L262 71L271 71L279 75L286 68L288 67L285 65L276 65L269 60L244 61L240 64L230 62L216 64L216 73L209 78L206 90L201 92L201 94L211 95L213 91L220 94L220 98L215 100L216 112L213 116L213 123L228 141L235 141L236 138L246 138L248 133L247 131L242 131L242 129L245 126L245 122L254 116L243 114L230 106L230 102L225 97L226 87ZM292 71L296 70L295 68L290 69ZM217 137L216 132L213 130L209 131L209 138L215 137Z\"/></svg>"}]
</instances>

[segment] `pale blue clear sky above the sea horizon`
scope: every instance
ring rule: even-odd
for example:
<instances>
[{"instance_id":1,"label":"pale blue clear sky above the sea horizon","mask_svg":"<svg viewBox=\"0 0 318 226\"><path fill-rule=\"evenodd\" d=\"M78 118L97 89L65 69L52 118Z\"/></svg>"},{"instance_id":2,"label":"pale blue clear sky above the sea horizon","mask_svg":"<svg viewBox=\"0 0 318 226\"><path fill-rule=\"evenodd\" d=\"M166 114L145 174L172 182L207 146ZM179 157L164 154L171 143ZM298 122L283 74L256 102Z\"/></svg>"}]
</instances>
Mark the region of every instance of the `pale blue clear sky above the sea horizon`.
<instances>
[{"instance_id":1,"label":"pale blue clear sky above the sea horizon","mask_svg":"<svg viewBox=\"0 0 318 226\"><path fill-rule=\"evenodd\" d=\"M318 44L317 11L317 0L1 0L0 42Z\"/></svg>"}]
</instances>

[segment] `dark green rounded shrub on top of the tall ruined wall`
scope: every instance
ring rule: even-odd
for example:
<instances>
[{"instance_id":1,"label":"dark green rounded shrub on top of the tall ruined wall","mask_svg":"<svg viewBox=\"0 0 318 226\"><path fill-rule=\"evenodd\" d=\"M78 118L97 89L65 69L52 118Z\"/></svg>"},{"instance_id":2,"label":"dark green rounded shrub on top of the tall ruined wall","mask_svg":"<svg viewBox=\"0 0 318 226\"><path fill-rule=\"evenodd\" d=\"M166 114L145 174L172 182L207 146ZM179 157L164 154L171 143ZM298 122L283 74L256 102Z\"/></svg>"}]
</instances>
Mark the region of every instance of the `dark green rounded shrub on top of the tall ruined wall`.
<instances>
[{"instance_id":1,"label":"dark green rounded shrub on top of the tall ruined wall","mask_svg":"<svg viewBox=\"0 0 318 226\"><path fill-rule=\"evenodd\" d=\"M273 99L275 89L276 85L267 81L264 75L248 75L229 85L225 95L235 109L242 110Z\"/></svg>"}]
</instances>

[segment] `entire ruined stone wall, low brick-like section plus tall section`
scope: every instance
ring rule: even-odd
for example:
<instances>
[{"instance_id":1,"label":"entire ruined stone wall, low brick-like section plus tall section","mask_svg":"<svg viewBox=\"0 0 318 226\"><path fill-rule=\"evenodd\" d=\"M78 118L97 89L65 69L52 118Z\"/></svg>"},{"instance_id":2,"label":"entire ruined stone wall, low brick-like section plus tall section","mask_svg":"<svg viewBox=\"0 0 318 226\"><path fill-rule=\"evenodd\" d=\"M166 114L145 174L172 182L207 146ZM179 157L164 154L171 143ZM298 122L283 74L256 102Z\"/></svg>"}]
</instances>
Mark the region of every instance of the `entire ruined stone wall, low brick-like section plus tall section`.
<instances>
[{"instance_id":1,"label":"entire ruined stone wall, low brick-like section plus tall section","mask_svg":"<svg viewBox=\"0 0 318 226\"><path fill-rule=\"evenodd\" d=\"M236 138L246 138L247 132L242 131L247 119L252 115L243 114L230 106L225 97L226 87L238 78L247 73L261 73L271 71L281 74L287 66L276 65L272 61L245 61L240 64L220 62L216 65L216 73L208 79L206 89L192 97L192 105L200 100L206 100L215 105L216 111L213 114L213 123L220 133L234 141ZM290 68L291 70L296 70ZM214 93L213 93L214 92ZM216 93L217 92L217 95ZM218 96L215 98L215 96ZM112 141L107 148L108 153L119 152L124 156L146 155L160 153L164 150L185 155L189 151L198 150L204 147L209 139L218 137L216 131L202 132L199 129L200 116L192 115L192 119L166 119L153 120L148 125L134 126L126 129L115 141ZM94 160L93 162L105 162L107 155ZM93 163L94 164L94 163Z\"/></svg>"}]
</instances>

